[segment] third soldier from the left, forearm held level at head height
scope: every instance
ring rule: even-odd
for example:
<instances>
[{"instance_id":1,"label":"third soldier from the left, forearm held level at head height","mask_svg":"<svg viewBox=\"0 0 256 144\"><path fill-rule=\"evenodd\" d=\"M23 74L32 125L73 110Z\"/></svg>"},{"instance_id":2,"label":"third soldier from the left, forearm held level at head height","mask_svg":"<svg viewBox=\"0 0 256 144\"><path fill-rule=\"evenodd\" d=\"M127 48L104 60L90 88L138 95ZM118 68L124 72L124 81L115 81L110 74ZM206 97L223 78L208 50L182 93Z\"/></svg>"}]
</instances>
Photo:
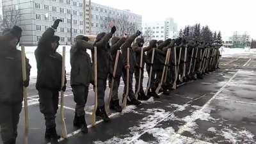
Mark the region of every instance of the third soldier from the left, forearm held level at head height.
<instances>
[{"instance_id":1,"label":"third soldier from the left, forearm held level at head height","mask_svg":"<svg viewBox=\"0 0 256 144\"><path fill-rule=\"evenodd\" d=\"M70 85L76 102L74 126L81 128L84 133L88 132L84 107L89 85L93 84L92 60L86 52L86 49L92 50L93 45L88 43L88 39L87 36L76 36L76 43L70 49Z\"/></svg>"}]
</instances>

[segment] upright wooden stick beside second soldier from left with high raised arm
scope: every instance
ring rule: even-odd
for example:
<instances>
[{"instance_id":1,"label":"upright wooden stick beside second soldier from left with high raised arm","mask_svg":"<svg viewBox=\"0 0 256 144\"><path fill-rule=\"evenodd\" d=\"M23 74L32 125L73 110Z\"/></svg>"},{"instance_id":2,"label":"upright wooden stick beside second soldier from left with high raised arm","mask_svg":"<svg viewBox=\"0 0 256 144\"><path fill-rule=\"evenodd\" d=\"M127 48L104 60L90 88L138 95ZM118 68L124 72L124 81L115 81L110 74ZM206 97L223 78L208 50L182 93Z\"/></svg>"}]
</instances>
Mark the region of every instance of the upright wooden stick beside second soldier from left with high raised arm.
<instances>
[{"instance_id":1,"label":"upright wooden stick beside second soldier from left with high raised arm","mask_svg":"<svg viewBox=\"0 0 256 144\"><path fill-rule=\"evenodd\" d=\"M61 71L61 100L60 100L60 113L61 113L61 136L62 138L67 138L67 127L65 123L65 117L64 117L64 92L62 90L64 84L65 84L65 58L66 58L66 47L63 46L62 51L62 71Z\"/></svg>"}]
</instances>

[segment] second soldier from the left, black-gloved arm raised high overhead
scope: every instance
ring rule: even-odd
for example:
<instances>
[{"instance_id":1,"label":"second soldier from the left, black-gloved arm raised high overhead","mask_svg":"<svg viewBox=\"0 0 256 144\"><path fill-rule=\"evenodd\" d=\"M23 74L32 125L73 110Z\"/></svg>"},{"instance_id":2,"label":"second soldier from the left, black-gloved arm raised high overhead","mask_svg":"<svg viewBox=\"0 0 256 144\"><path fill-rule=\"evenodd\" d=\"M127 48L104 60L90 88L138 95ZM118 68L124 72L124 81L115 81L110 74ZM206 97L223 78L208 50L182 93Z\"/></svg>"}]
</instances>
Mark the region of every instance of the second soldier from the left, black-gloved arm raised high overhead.
<instances>
[{"instance_id":1,"label":"second soldier from the left, black-gloved arm raised high overhead","mask_svg":"<svg viewBox=\"0 0 256 144\"><path fill-rule=\"evenodd\" d=\"M60 37L54 35L62 20L57 19L51 28L48 28L38 42L35 50L40 112L45 118L45 140L56 141L60 136L56 133L55 117L58 109L59 92L66 90L61 88L62 56L56 52ZM67 80L65 79L65 84Z\"/></svg>"}]
</instances>

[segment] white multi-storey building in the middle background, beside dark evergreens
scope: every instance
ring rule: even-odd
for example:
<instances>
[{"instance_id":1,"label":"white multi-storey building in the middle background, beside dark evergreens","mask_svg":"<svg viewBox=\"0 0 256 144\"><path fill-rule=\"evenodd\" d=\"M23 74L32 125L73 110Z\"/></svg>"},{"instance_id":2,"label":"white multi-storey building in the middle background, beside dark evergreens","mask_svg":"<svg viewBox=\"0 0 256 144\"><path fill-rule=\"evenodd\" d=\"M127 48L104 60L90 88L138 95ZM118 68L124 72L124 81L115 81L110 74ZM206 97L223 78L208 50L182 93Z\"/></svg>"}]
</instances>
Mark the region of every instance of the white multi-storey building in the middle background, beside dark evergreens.
<instances>
[{"instance_id":1,"label":"white multi-storey building in the middle background, beside dark evergreens","mask_svg":"<svg viewBox=\"0 0 256 144\"><path fill-rule=\"evenodd\" d=\"M177 24L172 18L167 18L161 22L144 22L142 31L145 41L166 40L178 36Z\"/></svg>"}]
</instances>

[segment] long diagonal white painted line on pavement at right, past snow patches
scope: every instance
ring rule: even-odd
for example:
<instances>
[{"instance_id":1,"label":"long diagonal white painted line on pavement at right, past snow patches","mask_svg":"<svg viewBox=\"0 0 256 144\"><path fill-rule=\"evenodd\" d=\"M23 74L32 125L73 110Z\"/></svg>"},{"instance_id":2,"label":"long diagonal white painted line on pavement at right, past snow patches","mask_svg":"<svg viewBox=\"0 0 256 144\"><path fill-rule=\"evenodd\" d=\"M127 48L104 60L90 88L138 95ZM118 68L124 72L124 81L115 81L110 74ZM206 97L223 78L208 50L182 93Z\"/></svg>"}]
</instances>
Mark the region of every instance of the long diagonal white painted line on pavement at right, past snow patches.
<instances>
[{"instance_id":1,"label":"long diagonal white painted line on pavement at right, past snow patches","mask_svg":"<svg viewBox=\"0 0 256 144\"><path fill-rule=\"evenodd\" d=\"M234 79L234 77L236 77L236 75L238 74L238 72L239 72L239 70L237 70L237 72L234 74L234 76L232 76L232 77L227 81L227 83L224 84L224 85L220 88L220 90L218 90L218 92L215 93L215 94L213 95L213 97L212 97L210 100L208 100L208 102L206 102L205 105L204 105L201 109L198 110L198 113L202 112L207 106L209 106L209 104L211 103L211 101L225 89L225 87L232 81L232 79ZM189 120L189 122L187 122L185 125L183 125L182 127L180 127L180 129L177 131L177 133L178 133L178 134L181 134L182 132L184 132L185 129L188 127L188 125L190 125L192 122L195 122L195 120L197 120L198 118L199 118L199 116L195 116L195 118Z\"/></svg>"}]
</instances>

